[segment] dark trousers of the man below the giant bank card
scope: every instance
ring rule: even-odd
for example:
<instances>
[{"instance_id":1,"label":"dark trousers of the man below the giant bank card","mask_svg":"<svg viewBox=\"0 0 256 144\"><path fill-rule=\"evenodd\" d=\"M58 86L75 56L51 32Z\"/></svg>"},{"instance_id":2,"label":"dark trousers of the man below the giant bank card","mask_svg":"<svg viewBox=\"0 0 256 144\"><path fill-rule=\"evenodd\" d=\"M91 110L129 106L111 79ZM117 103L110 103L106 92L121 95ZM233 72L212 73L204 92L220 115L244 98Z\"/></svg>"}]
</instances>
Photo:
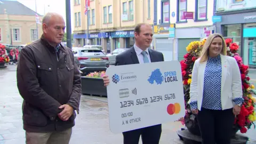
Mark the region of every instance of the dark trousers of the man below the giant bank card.
<instances>
[{"instance_id":1,"label":"dark trousers of the man below the giant bank card","mask_svg":"<svg viewBox=\"0 0 256 144\"><path fill-rule=\"evenodd\" d=\"M138 144L140 140L140 135L143 144L158 144L161 137L161 133L161 124L123 132L124 144Z\"/></svg>"}]
</instances>

